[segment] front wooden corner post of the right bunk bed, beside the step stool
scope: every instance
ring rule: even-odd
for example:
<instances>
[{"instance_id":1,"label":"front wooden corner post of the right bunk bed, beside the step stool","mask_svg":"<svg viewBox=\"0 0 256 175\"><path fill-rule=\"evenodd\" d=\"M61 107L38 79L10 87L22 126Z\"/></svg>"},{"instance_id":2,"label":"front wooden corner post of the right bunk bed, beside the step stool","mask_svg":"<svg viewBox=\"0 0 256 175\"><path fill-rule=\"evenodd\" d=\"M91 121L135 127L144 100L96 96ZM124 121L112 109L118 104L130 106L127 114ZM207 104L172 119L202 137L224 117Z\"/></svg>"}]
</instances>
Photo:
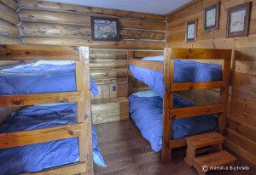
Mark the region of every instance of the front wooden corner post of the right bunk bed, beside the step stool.
<instances>
[{"instance_id":1,"label":"front wooden corner post of the right bunk bed, beside the step stool","mask_svg":"<svg viewBox=\"0 0 256 175\"><path fill-rule=\"evenodd\" d=\"M170 148L170 140L172 139L172 119L170 111L173 109L173 92L171 85L174 81L174 59L172 58L172 48L165 48L164 62L164 82L166 91L164 94L163 104L163 147L161 152L162 163L172 161L172 149Z\"/></svg>"}]
</instances>

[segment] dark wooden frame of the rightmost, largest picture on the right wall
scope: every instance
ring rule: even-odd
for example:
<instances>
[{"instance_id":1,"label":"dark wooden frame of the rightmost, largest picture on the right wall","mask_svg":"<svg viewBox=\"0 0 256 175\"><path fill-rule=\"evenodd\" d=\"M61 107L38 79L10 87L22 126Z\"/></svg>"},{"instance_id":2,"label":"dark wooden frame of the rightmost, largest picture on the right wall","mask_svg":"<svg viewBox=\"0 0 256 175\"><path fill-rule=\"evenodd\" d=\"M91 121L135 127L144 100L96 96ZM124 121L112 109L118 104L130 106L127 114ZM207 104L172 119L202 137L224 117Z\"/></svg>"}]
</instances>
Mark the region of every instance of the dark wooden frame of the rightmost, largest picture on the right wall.
<instances>
[{"instance_id":1,"label":"dark wooden frame of the rightmost, largest picture on the right wall","mask_svg":"<svg viewBox=\"0 0 256 175\"><path fill-rule=\"evenodd\" d=\"M229 8L227 31L226 31L227 37L247 37L248 36L251 6L252 6L252 2L249 2L249 3L243 3L241 5ZM232 13L238 13L243 10L245 10L245 16L243 18L243 20L244 20L243 30L242 31L231 31ZM239 21L236 21L236 24L237 23L239 23ZM233 23L233 25L235 25L235 23Z\"/></svg>"}]
</instances>

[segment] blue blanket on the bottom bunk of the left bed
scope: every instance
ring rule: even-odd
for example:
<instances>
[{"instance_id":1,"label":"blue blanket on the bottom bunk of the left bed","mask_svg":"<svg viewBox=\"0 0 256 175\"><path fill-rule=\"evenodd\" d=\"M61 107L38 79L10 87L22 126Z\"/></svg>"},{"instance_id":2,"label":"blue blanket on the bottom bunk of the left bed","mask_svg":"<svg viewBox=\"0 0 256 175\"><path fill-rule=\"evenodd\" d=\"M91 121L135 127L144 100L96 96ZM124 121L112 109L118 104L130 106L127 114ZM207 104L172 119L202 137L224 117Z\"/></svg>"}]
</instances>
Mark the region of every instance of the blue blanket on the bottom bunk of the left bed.
<instances>
[{"instance_id":1,"label":"blue blanket on the bottom bunk of the left bed","mask_svg":"<svg viewBox=\"0 0 256 175\"><path fill-rule=\"evenodd\" d=\"M14 112L0 126L0 133L12 133L73 124L77 120L76 104L46 104L27 106ZM105 166L92 127L93 157L96 164ZM31 144L0 150L0 174L38 172L45 168L79 161L78 138L67 138L41 144Z\"/></svg>"}]
</instances>

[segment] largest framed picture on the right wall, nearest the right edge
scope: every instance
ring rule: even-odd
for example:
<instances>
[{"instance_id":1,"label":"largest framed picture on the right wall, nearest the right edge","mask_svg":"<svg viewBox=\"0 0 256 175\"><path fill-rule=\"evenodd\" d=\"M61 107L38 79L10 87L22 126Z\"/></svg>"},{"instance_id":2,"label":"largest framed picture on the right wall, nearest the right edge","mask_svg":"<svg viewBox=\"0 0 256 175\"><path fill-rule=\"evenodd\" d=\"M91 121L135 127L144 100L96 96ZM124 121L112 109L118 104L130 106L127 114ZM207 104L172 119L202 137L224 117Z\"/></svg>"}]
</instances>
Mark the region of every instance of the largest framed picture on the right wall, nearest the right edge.
<instances>
[{"instance_id":1,"label":"largest framed picture on the right wall, nearest the right edge","mask_svg":"<svg viewBox=\"0 0 256 175\"><path fill-rule=\"evenodd\" d=\"M247 37L251 3L244 3L228 11L227 37Z\"/></svg>"}]
</instances>

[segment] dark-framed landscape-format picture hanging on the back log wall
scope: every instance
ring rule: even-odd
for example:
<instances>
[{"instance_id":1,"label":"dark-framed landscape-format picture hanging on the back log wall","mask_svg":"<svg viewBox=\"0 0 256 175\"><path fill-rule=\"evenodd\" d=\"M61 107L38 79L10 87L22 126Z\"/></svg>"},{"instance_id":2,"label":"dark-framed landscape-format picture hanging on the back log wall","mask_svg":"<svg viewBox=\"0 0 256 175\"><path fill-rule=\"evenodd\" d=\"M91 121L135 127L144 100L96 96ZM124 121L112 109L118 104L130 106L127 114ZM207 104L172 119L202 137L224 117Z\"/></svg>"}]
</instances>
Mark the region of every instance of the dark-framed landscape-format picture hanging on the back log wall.
<instances>
[{"instance_id":1,"label":"dark-framed landscape-format picture hanging on the back log wall","mask_svg":"<svg viewBox=\"0 0 256 175\"><path fill-rule=\"evenodd\" d=\"M116 18L90 17L93 41L118 41L119 20Z\"/></svg>"}]
</instances>

